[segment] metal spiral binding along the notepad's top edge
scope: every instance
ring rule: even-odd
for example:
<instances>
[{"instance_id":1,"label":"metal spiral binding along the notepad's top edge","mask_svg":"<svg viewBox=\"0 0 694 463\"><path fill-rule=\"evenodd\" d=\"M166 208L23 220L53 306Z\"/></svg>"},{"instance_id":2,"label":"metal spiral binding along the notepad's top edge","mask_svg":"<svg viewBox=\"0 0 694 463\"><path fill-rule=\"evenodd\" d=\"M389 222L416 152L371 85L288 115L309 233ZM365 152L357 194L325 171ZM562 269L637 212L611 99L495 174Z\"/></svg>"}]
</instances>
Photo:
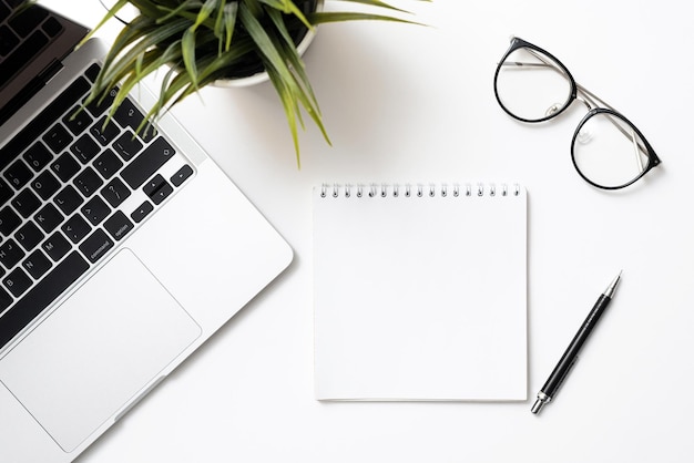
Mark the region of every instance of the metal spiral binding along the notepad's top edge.
<instances>
[{"instance_id":1,"label":"metal spiral binding along the notepad's top edge","mask_svg":"<svg viewBox=\"0 0 694 463\"><path fill-rule=\"evenodd\" d=\"M325 198L331 196L334 198L340 197L340 194L349 198L353 196L353 191L357 198L361 198L365 196L369 198L374 197L400 197L400 195L409 198L416 196L418 198L422 197L436 197L437 195L440 197L448 197L449 194L452 194L452 197L471 197L473 194L478 197L482 196L519 196L521 192L520 184L514 183L509 185L507 183L501 183L499 185L494 183L483 184L477 183L472 185L470 183L465 184L452 184L449 186L448 184L386 184L382 183L380 185L371 183L369 185L358 184L358 185L339 185L339 184L323 184L320 186L320 197Z\"/></svg>"}]
</instances>

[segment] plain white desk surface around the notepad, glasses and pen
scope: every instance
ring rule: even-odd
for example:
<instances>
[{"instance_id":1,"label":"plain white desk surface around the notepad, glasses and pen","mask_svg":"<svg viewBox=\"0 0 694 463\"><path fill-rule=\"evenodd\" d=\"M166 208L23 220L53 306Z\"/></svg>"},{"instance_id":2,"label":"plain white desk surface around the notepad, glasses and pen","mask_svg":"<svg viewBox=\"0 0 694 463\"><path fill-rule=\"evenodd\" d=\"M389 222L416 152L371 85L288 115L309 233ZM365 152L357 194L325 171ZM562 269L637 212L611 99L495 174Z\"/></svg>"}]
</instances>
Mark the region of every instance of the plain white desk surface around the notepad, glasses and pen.
<instances>
[{"instance_id":1,"label":"plain white desk surface around the notepad, glasses and pen","mask_svg":"<svg viewBox=\"0 0 694 463\"><path fill-rule=\"evenodd\" d=\"M95 0L42 1L88 24L102 14ZM271 84L204 89L175 110L296 259L80 462L598 463L694 454L686 2L435 0L418 10L433 27L319 29L305 60L334 146L308 125L300 171ZM663 164L624 192L585 184L569 153L579 105L541 126L516 123L498 106L492 76L510 34L558 56L643 131ZM528 400L314 400L312 186L496 178L529 192ZM619 294L570 379L532 415L537 391L620 269Z\"/></svg>"}]
</instances>

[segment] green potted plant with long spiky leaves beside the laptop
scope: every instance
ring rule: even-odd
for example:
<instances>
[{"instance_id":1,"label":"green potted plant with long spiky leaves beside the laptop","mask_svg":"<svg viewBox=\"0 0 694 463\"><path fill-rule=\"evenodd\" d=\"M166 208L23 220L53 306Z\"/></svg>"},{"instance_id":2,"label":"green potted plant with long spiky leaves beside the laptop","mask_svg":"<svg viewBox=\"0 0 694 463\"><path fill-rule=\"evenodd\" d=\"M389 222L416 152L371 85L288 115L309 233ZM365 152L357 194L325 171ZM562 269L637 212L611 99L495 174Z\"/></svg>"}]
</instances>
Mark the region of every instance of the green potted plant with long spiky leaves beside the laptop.
<instances>
[{"instance_id":1,"label":"green potted plant with long spiky leaves beside the laptop","mask_svg":"<svg viewBox=\"0 0 694 463\"><path fill-rule=\"evenodd\" d=\"M129 3L139 14L115 39L86 103L120 86L111 107L114 114L142 79L170 66L159 101L147 114L156 121L205 85L264 72L284 106L298 164L302 111L330 143L300 58L316 25L353 20L414 23L404 18L411 13L380 0L340 1L375 12L324 11L324 0L118 0L94 30Z\"/></svg>"}]
</instances>

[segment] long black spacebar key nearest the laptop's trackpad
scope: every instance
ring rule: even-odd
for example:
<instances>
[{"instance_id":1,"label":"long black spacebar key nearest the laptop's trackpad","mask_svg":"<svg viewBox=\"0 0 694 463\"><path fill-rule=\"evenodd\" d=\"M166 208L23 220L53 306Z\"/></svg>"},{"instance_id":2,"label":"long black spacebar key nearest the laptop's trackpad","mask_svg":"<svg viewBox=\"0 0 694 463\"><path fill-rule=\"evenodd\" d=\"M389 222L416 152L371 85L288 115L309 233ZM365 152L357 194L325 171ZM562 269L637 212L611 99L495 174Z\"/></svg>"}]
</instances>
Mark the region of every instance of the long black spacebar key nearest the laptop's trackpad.
<instances>
[{"instance_id":1,"label":"long black spacebar key nearest the laptop's trackpad","mask_svg":"<svg viewBox=\"0 0 694 463\"><path fill-rule=\"evenodd\" d=\"M14 307L0 317L0 349L88 269L89 264L78 251L72 251L62 263L57 265L37 286L18 300Z\"/></svg>"}]
</instances>

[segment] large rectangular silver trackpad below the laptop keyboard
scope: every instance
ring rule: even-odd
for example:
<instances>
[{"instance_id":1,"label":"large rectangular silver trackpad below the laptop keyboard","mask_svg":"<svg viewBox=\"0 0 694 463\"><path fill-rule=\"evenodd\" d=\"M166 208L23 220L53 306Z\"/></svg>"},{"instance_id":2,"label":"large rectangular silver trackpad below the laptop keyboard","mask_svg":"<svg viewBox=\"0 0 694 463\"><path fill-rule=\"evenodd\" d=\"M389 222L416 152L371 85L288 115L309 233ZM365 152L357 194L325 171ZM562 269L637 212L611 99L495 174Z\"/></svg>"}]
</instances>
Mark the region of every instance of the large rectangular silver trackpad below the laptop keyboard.
<instances>
[{"instance_id":1,"label":"large rectangular silver trackpad below the laptop keyboard","mask_svg":"<svg viewBox=\"0 0 694 463\"><path fill-rule=\"evenodd\" d=\"M0 361L0 381L70 452L200 333L124 249Z\"/></svg>"}]
</instances>

